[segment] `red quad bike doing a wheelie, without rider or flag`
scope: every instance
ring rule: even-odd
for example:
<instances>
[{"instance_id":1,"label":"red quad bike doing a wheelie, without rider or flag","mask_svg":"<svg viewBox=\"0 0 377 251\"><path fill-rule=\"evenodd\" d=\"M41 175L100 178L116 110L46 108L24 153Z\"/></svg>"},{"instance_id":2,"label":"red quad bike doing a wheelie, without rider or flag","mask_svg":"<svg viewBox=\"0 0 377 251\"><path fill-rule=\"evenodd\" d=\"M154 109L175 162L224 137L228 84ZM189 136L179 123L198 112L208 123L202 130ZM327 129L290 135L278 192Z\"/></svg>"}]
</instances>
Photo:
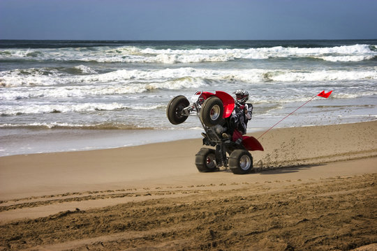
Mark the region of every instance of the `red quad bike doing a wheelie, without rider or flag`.
<instances>
[{"instance_id":1,"label":"red quad bike doing a wheelie, without rider or flag","mask_svg":"<svg viewBox=\"0 0 377 251\"><path fill-rule=\"evenodd\" d=\"M232 96L223 91L196 91L191 100L190 104L185 96L172 98L166 115L173 125L186 121L191 112L198 115L205 130L202 133L203 145L215 148L202 148L196 153L195 165L199 172L215 172L219 167L229 167L233 174L251 172L253 158L249 151L263 151L263 146L254 137L242 136L240 144L232 142L229 137L223 137L227 128L230 128L230 117L236 106Z\"/></svg>"}]
</instances>

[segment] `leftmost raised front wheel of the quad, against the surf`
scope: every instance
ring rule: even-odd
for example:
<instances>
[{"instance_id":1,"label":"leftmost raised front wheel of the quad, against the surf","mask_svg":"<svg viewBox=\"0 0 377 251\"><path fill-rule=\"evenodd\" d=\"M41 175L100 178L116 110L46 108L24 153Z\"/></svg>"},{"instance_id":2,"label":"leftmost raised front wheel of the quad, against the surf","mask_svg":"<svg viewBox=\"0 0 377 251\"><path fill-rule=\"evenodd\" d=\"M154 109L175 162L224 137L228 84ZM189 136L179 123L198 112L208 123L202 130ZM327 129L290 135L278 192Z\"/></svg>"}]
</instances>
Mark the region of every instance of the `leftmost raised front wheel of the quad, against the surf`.
<instances>
[{"instance_id":1,"label":"leftmost raised front wheel of the quad, against the surf","mask_svg":"<svg viewBox=\"0 0 377 251\"><path fill-rule=\"evenodd\" d=\"M172 98L168 103L168 107L166 108L166 116L168 117L170 123L173 125L178 125L180 123L184 123L188 116L182 114L184 108L188 107L190 102L188 102L185 96L177 96Z\"/></svg>"}]
</instances>

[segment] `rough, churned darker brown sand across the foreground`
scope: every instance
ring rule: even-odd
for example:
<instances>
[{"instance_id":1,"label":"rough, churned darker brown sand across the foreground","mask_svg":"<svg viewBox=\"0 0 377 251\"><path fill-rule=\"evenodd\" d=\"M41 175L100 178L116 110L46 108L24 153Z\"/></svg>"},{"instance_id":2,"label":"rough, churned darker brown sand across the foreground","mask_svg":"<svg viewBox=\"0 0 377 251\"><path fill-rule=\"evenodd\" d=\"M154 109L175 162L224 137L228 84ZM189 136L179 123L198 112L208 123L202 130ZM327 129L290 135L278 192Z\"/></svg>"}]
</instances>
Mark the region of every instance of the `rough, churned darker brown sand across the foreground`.
<instances>
[{"instance_id":1,"label":"rough, churned darker brown sand across the foreground","mask_svg":"<svg viewBox=\"0 0 377 251\"><path fill-rule=\"evenodd\" d=\"M376 178L243 184L75 208L1 225L2 245L10 250L350 250L377 241Z\"/></svg>"}]
</instances>

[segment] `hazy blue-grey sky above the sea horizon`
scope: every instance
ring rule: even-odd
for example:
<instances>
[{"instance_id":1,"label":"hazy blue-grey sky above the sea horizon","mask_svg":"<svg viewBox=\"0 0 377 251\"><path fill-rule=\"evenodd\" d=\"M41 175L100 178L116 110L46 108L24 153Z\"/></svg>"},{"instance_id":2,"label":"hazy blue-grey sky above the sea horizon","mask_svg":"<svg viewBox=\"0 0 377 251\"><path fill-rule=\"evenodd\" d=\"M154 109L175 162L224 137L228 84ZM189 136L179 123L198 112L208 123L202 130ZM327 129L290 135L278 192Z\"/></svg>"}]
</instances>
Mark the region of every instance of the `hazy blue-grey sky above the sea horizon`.
<instances>
[{"instance_id":1,"label":"hazy blue-grey sky above the sea horizon","mask_svg":"<svg viewBox=\"0 0 377 251\"><path fill-rule=\"evenodd\" d=\"M377 0L0 0L0 39L376 39Z\"/></svg>"}]
</instances>

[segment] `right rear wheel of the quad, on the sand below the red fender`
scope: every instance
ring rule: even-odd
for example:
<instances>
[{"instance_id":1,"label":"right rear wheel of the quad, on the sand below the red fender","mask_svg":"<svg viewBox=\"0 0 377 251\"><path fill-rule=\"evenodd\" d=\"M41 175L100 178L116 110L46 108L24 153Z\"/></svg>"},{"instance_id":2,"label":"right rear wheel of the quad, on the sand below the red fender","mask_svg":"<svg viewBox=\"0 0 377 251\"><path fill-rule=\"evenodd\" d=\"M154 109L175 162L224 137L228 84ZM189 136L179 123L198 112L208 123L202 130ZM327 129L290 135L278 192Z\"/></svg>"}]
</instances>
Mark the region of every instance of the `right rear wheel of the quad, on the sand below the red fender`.
<instances>
[{"instance_id":1,"label":"right rear wheel of the quad, on the sand below the red fender","mask_svg":"<svg viewBox=\"0 0 377 251\"><path fill-rule=\"evenodd\" d=\"M229 156L229 168L233 174L249 174L253 169L253 157L249 151L237 149Z\"/></svg>"}]
</instances>

